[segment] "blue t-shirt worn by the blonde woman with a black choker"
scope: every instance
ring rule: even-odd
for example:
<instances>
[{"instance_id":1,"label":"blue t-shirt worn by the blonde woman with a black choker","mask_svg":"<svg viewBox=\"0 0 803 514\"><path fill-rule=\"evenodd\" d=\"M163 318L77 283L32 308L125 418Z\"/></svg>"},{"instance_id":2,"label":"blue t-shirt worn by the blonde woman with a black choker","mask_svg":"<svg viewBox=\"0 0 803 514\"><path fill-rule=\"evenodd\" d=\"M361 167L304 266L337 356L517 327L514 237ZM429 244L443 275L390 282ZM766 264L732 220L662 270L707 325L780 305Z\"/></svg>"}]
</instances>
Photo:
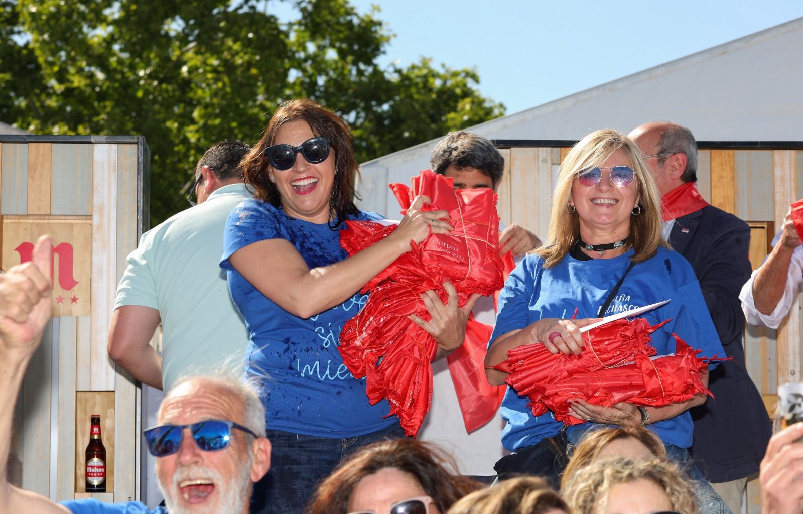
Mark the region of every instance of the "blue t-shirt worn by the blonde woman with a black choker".
<instances>
[{"instance_id":1,"label":"blue t-shirt worn by the blonde woman with a black choker","mask_svg":"<svg viewBox=\"0 0 803 514\"><path fill-rule=\"evenodd\" d=\"M622 278L632 255L631 250L614 259L587 261L566 255L549 269L541 267L543 260L539 255L527 255L507 278L499 294L499 314L491 341L542 318L571 318L575 308L578 308L577 319L597 317L597 309ZM659 247L652 259L634 265L604 316L667 299L671 300L668 304L639 316L650 324L671 318L651 335L658 355L675 353L675 338L672 337L675 332L687 345L702 349L701 356L724 357L694 271L683 255L664 247ZM552 437L563 426L552 412L533 416L528 402L526 395L519 396L512 387L507 387L501 409L502 417L507 420L502 443L510 451ZM569 430L577 427L585 428L585 424L569 427ZM649 427L664 443L681 448L691 446L692 423L688 412Z\"/></svg>"}]
</instances>

